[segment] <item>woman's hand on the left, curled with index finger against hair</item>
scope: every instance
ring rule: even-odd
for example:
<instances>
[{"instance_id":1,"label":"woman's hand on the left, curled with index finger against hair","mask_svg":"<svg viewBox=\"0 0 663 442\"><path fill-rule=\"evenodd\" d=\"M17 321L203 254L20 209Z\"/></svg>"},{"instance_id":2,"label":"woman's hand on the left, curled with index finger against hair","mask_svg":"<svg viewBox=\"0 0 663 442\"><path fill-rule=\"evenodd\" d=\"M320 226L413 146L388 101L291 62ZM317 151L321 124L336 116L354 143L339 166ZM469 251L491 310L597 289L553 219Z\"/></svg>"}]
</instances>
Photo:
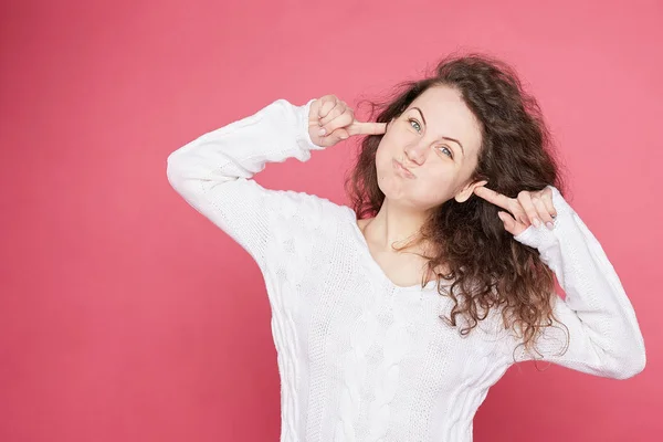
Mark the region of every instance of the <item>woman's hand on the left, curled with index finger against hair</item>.
<instances>
[{"instance_id":1,"label":"woman's hand on the left, curled with index finger against hair","mask_svg":"<svg viewBox=\"0 0 663 442\"><path fill-rule=\"evenodd\" d=\"M320 135L319 130L325 129ZM308 135L322 147L330 147L352 135L380 135L386 123L362 123L355 119L354 110L336 95L325 95L311 104Z\"/></svg>"}]
</instances>

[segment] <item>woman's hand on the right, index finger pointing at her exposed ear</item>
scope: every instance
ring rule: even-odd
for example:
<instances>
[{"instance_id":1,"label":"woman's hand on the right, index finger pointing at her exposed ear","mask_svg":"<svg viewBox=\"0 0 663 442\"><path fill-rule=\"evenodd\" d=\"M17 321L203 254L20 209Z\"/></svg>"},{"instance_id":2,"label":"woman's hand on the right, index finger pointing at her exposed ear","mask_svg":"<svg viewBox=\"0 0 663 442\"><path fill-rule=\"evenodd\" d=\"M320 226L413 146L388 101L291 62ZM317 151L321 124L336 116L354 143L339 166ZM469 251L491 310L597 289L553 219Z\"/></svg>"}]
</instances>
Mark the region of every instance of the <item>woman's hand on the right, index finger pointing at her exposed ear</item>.
<instances>
[{"instance_id":1,"label":"woman's hand on the right, index finger pointing at her exposed ear","mask_svg":"<svg viewBox=\"0 0 663 442\"><path fill-rule=\"evenodd\" d=\"M550 230L555 227L557 211L552 206L552 190L549 187L534 192L523 190L517 198L508 198L478 186L474 188L474 194L508 211L498 211L497 215L504 223L504 229L514 236L532 224L537 228L546 224Z\"/></svg>"}]
</instances>

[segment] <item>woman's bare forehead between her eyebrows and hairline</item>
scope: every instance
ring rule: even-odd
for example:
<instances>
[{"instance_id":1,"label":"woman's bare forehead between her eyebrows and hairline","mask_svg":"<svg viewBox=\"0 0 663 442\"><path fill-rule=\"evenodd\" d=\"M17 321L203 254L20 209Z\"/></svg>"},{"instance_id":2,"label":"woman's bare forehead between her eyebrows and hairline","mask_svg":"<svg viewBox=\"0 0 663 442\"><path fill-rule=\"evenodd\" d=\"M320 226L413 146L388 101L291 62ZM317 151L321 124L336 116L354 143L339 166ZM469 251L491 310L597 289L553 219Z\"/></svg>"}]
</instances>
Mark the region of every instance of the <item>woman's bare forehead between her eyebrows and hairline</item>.
<instances>
[{"instance_id":1,"label":"woman's bare forehead between her eyebrows and hairline","mask_svg":"<svg viewBox=\"0 0 663 442\"><path fill-rule=\"evenodd\" d=\"M481 130L474 114L463 102L461 93L449 86L430 87L419 95L408 107L409 114L417 114L413 107L423 112L427 133L435 137L459 139L465 149L478 148Z\"/></svg>"}]
</instances>

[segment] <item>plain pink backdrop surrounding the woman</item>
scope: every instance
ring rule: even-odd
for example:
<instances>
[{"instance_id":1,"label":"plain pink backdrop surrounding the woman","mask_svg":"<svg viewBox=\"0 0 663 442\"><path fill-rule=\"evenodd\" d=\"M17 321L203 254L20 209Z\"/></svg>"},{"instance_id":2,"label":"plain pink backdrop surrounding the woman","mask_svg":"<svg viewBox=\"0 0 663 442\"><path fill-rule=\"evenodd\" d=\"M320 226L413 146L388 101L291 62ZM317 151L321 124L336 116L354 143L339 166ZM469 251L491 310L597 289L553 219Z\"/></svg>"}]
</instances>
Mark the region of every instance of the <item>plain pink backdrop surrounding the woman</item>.
<instances>
[{"instance_id":1,"label":"plain pink backdrop surrounding the woman","mask_svg":"<svg viewBox=\"0 0 663 442\"><path fill-rule=\"evenodd\" d=\"M663 7L533 3L2 2L0 440L277 440L260 272L166 158L276 98L380 97L456 49L512 62L539 98L649 357L624 381L512 368L475 440L661 440ZM345 203L352 147L257 180Z\"/></svg>"}]
</instances>

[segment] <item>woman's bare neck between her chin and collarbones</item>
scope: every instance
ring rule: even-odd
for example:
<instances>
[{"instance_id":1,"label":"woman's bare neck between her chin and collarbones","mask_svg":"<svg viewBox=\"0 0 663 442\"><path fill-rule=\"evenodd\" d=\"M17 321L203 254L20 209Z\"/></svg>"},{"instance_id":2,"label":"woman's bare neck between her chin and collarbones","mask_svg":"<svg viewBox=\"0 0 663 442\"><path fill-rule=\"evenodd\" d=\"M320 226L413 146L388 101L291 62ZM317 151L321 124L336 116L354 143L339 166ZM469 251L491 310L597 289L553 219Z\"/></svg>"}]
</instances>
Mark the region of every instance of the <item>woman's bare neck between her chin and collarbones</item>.
<instances>
[{"instance_id":1,"label":"woman's bare neck between her chin and collarbones","mask_svg":"<svg viewBox=\"0 0 663 442\"><path fill-rule=\"evenodd\" d=\"M383 251L403 251L421 253L422 244L418 243L420 231L428 214L399 206L385 199L378 214L367 223L364 234L375 245Z\"/></svg>"}]
</instances>

